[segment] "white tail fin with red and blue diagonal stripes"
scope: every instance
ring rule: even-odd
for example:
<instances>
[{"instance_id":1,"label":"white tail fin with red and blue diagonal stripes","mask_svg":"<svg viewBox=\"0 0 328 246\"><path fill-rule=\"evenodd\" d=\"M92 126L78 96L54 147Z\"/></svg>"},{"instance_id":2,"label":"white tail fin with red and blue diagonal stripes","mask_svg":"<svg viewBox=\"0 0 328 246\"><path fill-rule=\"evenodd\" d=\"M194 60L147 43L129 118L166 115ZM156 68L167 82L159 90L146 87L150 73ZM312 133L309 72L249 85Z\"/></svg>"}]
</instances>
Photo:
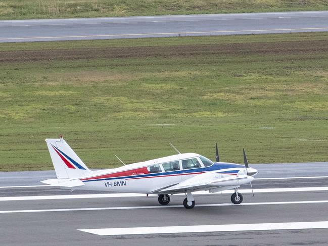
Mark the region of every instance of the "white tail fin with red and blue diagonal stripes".
<instances>
[{"instance_id":1,"label":"white tail fin with red and blue diagonal stripes","mask_svg":"<svg viewBox=\"0 0 328 246\"><path fill-rule=\"evenodd\" d=\"M45 139L57 178L80 178L91 172L63 137Z\"/></svg>"}]
</instances>

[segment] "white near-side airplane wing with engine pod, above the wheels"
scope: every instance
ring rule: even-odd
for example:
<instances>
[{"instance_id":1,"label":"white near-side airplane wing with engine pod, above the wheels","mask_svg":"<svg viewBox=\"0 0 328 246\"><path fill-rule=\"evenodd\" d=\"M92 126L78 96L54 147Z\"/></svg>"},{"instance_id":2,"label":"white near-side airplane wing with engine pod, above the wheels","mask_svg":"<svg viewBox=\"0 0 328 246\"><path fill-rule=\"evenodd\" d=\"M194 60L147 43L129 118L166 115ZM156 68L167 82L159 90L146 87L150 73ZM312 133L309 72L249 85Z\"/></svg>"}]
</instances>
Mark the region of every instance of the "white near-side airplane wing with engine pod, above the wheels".
<instances>
[{"instance_id":1,"label":"white near-side airplane wing with engine pod, above the wheels","mask_svg":"<svg viewBox=\"0 0 328 246\"><path fill-rule=\"evenodd\" d=\"M210 192L218 192L225 189L239 187L241 184L247 184L253 180L254 178L248 175L229 175L227 177L226 174L214 171L198 174L173 186L154 190L152 193L174 194L186 192L187 190L210 190Z\"/></svg>"}]
</instances>

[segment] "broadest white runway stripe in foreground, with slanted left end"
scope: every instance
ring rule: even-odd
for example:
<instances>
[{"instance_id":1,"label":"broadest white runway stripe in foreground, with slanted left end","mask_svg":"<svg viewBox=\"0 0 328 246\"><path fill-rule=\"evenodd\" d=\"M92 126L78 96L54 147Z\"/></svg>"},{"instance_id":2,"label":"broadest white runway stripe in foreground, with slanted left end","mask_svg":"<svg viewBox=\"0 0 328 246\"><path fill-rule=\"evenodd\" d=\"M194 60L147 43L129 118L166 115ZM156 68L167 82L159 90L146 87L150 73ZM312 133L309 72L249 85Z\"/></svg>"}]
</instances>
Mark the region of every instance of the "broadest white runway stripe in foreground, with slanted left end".
<instances>
[{"instance_id":1,"label":"broadest white runway stripe in foreground, with slanted left end","mask_svg":"<svg viewBox=\"0 0 328 246\"><path fill-rule=\"evenodd\" d=\"M228 225L189 225L189 226L159 226L159 227L126 227L102 229L78 229L101 236L136 235L136 234L167 234L223 231L262 231L262 230L295 230L328 228L328 221L291 222L291 223L258 223L258 224L228 224Z\"/></svg>"}]
</instances>

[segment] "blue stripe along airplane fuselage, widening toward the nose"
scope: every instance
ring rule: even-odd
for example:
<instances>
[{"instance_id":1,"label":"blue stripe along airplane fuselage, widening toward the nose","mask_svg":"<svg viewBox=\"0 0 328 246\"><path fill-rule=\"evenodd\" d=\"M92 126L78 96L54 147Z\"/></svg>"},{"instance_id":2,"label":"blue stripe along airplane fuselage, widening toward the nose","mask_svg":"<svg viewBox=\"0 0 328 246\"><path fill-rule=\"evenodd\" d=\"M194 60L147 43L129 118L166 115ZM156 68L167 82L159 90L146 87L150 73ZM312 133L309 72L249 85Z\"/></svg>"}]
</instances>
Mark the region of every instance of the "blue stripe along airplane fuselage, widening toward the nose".
<instances>
[{"instance_id":1,"label":"blue stripe along airplane fuselage, widening toward the nose","mask_svg":"<svg viewBox=\"0 0 328 246\"><path fill-rule=\"evenodd\" d=\"M170 171L170 172L162 172L162 173L147 173L140 175L131 175L131 176L120 176L120 177L110 177L110 178L102 178L102 179L91 179L91 180L82 180L83 182L91 182L91 181L104 181L104 180L113 180L113 179L127 179L127 178L144 178L144 177L154 177L154 176L167 176L167 175L176 175L176 174L192 174L198 172L210 172L220 169L229 169L229 168L244 168L245 166L233 163L214 163L209 167L201 167L201 168L193 168L193 169L184 169L178 171ZM227 170L222 173L238 173L239 170Z\"/></svg>"}]
</instances>

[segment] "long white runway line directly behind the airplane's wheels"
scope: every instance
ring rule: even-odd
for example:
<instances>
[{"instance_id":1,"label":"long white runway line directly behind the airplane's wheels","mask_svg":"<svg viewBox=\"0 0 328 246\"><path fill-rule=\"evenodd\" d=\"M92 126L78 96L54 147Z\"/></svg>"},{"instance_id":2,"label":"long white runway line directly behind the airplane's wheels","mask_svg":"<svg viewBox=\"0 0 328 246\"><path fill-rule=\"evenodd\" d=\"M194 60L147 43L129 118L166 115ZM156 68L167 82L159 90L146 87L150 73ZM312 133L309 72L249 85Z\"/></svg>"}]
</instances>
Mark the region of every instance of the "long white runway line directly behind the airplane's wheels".
<instances>
[{"instance_id":1,"label":"long white runway line directly behind the airplane's wheels","mask_svg":"<svg viewBox=\"0 0 328 246\"><path fill-rule=\"evenodd\" d=\"M253 189L254 193L271 193L271 192L299 192L299 191L327 191L328 186L320 187L297 187L297 188L268 188L268 189ZM222 194L231 194L235 191L224 190ZM252 193L251 189L239 189L241 193ZM208 191L195 191L194 195L213 195L217 193L209 193ZM156 194L149 194L155 196ZM175 194L184 195L184 194ZM31 196L6 196L0 201L27 201L27 200L57 200L57 199L86 199L86 198L130 198L137 196L146 196L139 193L101 193L101 194L76 194L76 195L31 195Z\"/></svg>"}]
</instances>

